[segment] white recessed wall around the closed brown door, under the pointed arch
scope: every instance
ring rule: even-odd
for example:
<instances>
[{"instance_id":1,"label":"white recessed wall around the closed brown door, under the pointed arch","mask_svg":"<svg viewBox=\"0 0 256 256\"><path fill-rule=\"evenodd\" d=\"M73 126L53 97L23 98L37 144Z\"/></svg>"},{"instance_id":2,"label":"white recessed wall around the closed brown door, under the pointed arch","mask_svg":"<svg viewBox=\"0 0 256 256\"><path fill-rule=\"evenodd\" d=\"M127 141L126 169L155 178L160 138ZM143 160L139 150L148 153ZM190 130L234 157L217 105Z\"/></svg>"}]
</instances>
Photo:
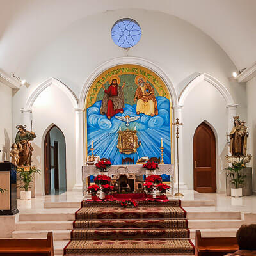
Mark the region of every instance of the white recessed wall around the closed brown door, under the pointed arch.
<instances>
[{"instance_id":1,"label":"white recessed wall around the closed brown door, under the pointed arch","mask_svg":"<svg viewBox=\"0 0 256 256\"><path fill-rule=\"evenodd\" d=\"M223 96L206 81L191 90L182 108L182 170L181 178L189 189L193 189L193 138L196 127L206 121L216 138L217 190L225 191L225 171L228 166L226 133L228 132L227 103ZM191 154L192 153L192 154Z\"/></svg>"}]
</instances>

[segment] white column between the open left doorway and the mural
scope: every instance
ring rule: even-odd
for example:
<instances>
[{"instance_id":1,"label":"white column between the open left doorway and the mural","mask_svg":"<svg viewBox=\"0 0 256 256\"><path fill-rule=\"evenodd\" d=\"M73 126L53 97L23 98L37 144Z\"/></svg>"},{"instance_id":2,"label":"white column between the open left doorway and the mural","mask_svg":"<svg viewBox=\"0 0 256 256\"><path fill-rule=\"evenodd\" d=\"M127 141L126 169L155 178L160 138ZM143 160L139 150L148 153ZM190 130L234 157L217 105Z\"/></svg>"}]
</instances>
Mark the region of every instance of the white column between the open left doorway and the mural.
<instances>
[{"instance_id":1,"label":"white column between the open left doorway and the mural","mask_svg":"<svg viewBox=\"0 0 256 256\"><path fill-rule=\"evenodd\" d=\"M83 108L76 108L76 185L73 190L81 191L82 182L82 166L84 164L84 147L83 147Z\"/></svg>"}]
</instances>

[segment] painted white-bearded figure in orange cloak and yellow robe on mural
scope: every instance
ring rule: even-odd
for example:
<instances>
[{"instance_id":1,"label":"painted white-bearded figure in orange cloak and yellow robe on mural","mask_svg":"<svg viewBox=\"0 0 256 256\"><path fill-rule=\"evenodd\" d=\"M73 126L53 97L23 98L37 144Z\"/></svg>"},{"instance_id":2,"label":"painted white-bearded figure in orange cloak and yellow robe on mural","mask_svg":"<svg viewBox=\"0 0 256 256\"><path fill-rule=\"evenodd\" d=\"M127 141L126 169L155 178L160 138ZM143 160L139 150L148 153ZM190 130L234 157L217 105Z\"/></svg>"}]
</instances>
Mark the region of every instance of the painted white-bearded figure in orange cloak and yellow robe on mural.
<instances>
[{"instance_id":1,"label":"painted white-bearded figure in orange cloak and yellow robe on mural","mask_svg":"<svg viewBox=\"0 0 256 256\"><path fill-rule=\"evenodd\" d=\"M142 77L138 79L138 87L134 95L134 102L136 102L136 100L137 115L140 113L149 116L158 114L154 88L152 88L149 83L145 83Z\"/></svg>"}]
</instances>

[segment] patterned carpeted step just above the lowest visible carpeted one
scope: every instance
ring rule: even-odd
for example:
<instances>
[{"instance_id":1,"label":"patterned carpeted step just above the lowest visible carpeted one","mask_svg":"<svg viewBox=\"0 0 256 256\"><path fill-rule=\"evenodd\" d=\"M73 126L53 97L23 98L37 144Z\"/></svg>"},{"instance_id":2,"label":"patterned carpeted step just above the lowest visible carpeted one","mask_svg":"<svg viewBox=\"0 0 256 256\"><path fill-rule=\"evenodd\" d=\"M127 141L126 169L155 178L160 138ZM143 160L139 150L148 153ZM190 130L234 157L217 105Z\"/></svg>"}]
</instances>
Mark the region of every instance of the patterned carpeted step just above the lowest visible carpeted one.
<instances>
[{"instance_id":1,"label":"patterned carpeted step just above the lowest visible carpeted one","mask_svg":"<svg viewBox=\"0 0 256 256\"><path fill-rule=\"evenodd\" d=\"M152 239L152 238L189 238L188 228L127 228L127 229L76 229L71 239Z\"/></svg>"}]
</instances>

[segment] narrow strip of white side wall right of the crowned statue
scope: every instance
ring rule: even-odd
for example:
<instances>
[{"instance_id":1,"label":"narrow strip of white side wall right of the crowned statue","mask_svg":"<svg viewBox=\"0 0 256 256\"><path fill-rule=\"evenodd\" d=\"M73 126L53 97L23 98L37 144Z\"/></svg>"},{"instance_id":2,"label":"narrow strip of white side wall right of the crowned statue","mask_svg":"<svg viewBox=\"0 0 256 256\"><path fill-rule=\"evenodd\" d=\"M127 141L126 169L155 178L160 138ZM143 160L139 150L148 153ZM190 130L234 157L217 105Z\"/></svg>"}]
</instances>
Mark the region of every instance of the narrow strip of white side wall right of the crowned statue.
<instances>
[{"instance_id":1,"label":"narrow strip of white side wall right of the crowned statue","mask_svg":"<svg viewBox=\"0 0 256 256\"><path fill-rule=\"evenodd\" d=\"M249 127L248 153L252 154L253 191L256 191L256 77L246 83L247 124Z\"/></svg>"}]
</instances>

